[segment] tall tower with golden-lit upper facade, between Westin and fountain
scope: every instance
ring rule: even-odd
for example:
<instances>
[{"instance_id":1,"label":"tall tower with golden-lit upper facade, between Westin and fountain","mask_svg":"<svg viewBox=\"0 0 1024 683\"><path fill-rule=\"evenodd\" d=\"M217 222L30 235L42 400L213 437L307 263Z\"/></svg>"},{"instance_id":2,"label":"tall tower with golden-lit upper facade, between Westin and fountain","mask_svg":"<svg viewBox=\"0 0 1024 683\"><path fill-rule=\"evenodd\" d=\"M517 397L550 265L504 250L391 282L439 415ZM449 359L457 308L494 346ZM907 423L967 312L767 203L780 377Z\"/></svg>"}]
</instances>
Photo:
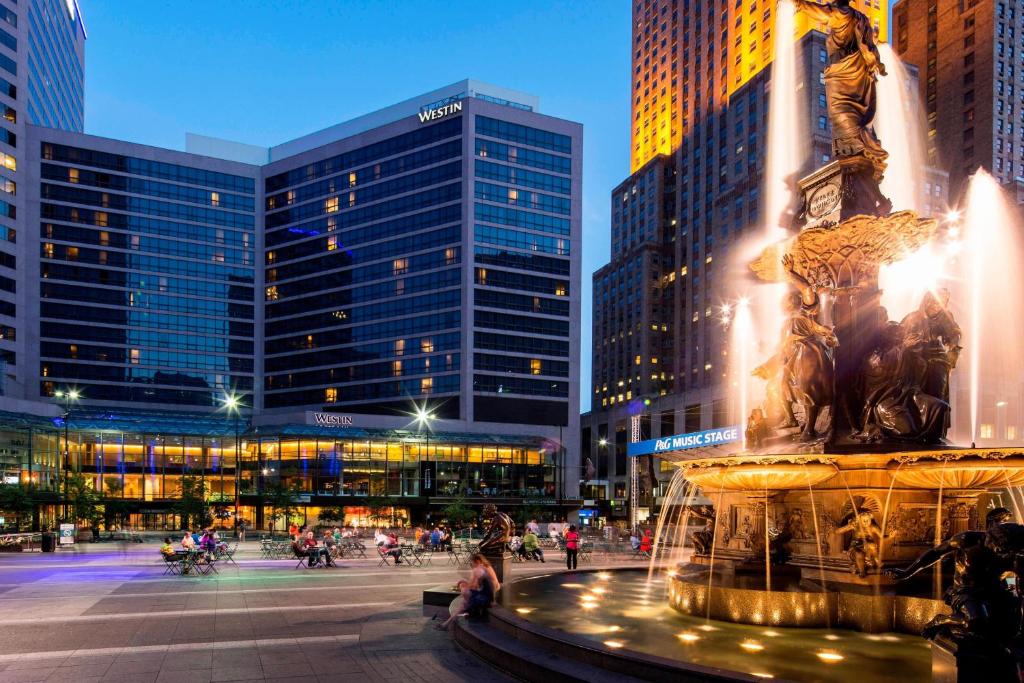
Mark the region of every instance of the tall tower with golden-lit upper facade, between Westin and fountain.
<instances>
[{"instance_id":1,"label":"tall tower with golden-lit upper facade, between Westin and fountain","mask_svg":"<svg viewBox=\"0 0 1024 683\"><path fill-rule=\"evenodd\" d=\"M888 2L858 0L880 39ZM721 306L734 247L764 227L775 5L768 0L633 3L631 175L612 191L612 259L594 273L591 412L585 486L602 516L625 517L630 416L640 436L724 426ZM799 17L798 89L808 122L804 173L831 159L822 72L825 27ZM794 142L798 144L798 142ZM668 476L668 471L666 472ZM644 477L645 500L657 488ZM653 496L652 496L653 495Z\"/></svg>"}]
</instances>

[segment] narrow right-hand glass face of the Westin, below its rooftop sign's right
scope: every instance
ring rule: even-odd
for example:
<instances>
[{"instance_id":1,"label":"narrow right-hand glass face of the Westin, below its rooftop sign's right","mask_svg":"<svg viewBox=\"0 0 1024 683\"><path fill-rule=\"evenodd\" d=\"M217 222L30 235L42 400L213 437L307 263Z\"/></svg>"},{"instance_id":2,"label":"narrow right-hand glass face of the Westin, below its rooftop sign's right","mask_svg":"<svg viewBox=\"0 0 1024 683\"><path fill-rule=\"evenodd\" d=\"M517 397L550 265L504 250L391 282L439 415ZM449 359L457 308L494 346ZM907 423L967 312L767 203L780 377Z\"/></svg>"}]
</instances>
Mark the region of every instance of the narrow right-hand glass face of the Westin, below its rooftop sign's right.
<instances>
[{"instance_id":1,"label":"narrow right-hand glass face of the Westin, below its rooftop sign's right","mask_svg":"<svg viewBox=\"0 0 1024 683\"><path fill-rule=\"evenodd\" d=\"M473 415L564 425L573 140L480 115L474 131Z\"/></svg>"}]
</instances>

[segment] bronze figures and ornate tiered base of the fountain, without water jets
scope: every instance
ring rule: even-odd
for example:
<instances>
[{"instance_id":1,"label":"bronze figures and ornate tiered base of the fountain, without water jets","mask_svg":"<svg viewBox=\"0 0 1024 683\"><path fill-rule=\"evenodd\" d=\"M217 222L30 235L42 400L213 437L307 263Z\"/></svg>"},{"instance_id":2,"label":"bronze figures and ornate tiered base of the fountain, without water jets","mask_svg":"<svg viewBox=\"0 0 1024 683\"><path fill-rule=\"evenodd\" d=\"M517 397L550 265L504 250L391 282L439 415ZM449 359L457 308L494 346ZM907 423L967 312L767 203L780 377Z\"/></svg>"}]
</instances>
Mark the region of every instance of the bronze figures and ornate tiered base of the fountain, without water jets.
<instances>
[{"instance_id":1,"label":"bronze figures and ornate tiered base of the fountain, without water jets","mask_svg":"<svg viewBox=\"0 0 1024 683\"><path fill-rule=\"evenodd\" d=\"M664 456L715 502L689 508L707 526L691 535L695 552L680 568L697 578L684 570L671 580L672 604L752 624L923 632L970 641L971 652L997 643L1004 659L1020 661L1021 599L1000 575L1022 568L1024 526L1000 509L985 531L971 529L992 505L989 490L1024 484L1024 454L947 442L963 337L949 292L926 293L900 321L881 304L881 267L929 244L939 226L891 212L880 189L888 155L871 120L886 71L873 32L847 0L794 2L829 29L835 161L800 181L799 231L750 264L761 281L790 289L775 351L753 371L766 398L750 411L744 447ZM951 615L937 600L900 593L946 555L956 567ZM768 590L742 611L738 593L708 579L765 572L770 587L779 564L817 590ZM868 586L874 594L864 597Z\"/></svg>"}]
</instances>

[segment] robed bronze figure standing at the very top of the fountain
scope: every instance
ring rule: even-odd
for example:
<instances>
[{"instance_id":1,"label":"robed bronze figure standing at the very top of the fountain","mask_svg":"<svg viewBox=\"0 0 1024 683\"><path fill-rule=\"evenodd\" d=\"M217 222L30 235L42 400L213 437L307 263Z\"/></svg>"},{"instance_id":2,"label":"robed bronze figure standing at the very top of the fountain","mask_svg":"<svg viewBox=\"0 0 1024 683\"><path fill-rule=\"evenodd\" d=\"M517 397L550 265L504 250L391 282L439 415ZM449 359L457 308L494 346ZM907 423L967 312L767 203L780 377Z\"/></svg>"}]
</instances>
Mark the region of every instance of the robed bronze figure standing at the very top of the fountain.
<instances>
[{"instance_id":1,"label":"robed bronze figure standing at the very top of the fountain","mask_svg":"<svg viewBox=\"0 0 1024 683\"><path fill-rule=\"evenodd\" d=\"M825 49L825 96L833 130L833 152L843 167L844 218L856 214L885 216L892 203L879 188L889 155L871 127L874 82L886 75L867 16L850 0L818 4L793 0L798 11L828 27Z\"/></svg>"}]
</instances>

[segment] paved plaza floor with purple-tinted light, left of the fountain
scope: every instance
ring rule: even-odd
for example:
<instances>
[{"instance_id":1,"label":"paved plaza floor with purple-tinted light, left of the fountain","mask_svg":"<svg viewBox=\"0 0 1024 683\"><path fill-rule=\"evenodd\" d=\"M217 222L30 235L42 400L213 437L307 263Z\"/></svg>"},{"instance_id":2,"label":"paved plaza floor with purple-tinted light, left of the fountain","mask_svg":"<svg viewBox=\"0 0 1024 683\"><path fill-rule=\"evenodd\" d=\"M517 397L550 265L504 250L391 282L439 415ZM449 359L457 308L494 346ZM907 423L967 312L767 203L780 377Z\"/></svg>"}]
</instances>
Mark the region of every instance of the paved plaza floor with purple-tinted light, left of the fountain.
<instances>
[{"instance_id":1,"label":"paved plaza floor with purple-tinted light, left of the fountain","mask_svg":"<svg viewBox=\"0 0 1024 683\"><path fill-rule=\"evenodd\" d=\"M249 542L239 567L165 577L158 548L0 554L0 683L509 680L423 615L424 589L466 573L443 556L428 567L378 568L374 557L296 569Z\"/></svg>"}]
</instances>

